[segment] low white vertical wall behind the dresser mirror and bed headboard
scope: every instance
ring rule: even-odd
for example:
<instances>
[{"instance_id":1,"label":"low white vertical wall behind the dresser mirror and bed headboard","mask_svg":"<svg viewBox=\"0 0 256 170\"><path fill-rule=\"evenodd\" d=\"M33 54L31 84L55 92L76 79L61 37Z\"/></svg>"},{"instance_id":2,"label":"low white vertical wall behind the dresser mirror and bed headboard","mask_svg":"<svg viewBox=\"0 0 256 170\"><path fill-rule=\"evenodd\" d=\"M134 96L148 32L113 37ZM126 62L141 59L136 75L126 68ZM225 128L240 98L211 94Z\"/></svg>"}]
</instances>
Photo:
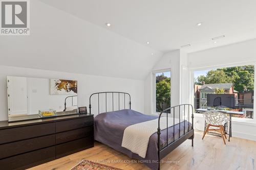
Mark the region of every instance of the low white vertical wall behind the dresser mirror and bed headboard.
<instances>
[{"instance_id":1,"label":"low white vertical wall behind the dresser mirror and bed headboard","mask_svg":"<svg viewBox=\"0 0 256 170\"><path fill-rule=\"evenodd\" d=\"M132 109L144 112L144 81L0 66L0 120L8 120L7 76L69 79L78 81L78 106L89 107L89 96L100 91L124 91L132 96ZM92 106L93 107L93 106ZM89 109L89 108L88 108Z\"/></svg>"}]
</instances>

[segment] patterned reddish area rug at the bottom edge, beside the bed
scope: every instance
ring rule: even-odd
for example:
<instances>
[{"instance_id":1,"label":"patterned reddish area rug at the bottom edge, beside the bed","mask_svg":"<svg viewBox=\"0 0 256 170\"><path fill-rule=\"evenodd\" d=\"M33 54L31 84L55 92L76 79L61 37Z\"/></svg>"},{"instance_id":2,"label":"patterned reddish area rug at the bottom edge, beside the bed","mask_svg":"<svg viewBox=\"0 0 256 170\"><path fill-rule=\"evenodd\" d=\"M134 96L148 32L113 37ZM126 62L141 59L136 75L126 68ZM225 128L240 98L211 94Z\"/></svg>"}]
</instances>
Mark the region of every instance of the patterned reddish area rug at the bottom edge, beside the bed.
<instances>
[{"instance_id":1,"label":"patterned reddish area rug at the bottom edge, beside the bed","mask_svg":"<svg viewBox=\"0 0 256 170\"><path fill-rule=\"evenodd\" d=\"M96 163L89 160L83 160L80 163L78 163L75 167L73 167L71 170L122 170L116 167L103 165L100 163Z\"/></svg>"}]
</instances>

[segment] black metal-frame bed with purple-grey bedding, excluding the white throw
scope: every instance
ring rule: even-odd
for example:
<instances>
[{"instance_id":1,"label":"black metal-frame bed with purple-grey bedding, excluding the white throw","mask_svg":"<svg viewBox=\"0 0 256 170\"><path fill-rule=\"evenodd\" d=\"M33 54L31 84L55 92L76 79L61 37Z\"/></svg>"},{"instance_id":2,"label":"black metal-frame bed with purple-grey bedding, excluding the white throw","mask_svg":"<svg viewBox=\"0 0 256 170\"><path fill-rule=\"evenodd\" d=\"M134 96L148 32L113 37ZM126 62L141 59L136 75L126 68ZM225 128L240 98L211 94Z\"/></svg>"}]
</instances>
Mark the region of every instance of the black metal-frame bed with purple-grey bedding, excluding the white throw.
<instances>
[{"instance_id":1,"label":"black metal-frame bed with purple-grey bedding, excluding the white throw","mask_svg":"<svg viewBox=\"0 0 256 170\"><path fill-rule=\"evenodd\" d=\"M105 94L105 106L108 106L108 102L112 102L112 111L108 111L107 107L105 108L104 112L99 111L100 94ZM114 94L118 94L119 106L117 110L114 110ZM123 108L120 108L120 94L124 95ZM97 104L94 105L96 108L98 108L98 115L94 118L95 140L106 144L119 152L124 153L130 158L138 159L138 162L146 164L151 169L160 169L161 159L168 153L172 152L186 139L191 139L191 144L193 146L193 106L189 104L183 104L167 108L163 110L159 116L145 115L131 109L131 95L129 93L98 92L93 93L90 96L90 114L92 113L91 98L94 95L96 98L98 98L98 106L96 106ZM107 95L112 95L112 100L107 101ZM129 96L128 101L125 101L125 95ZM125 108L125 103L129 104L128 108ZM162 120L164 118L167 121L166 128L161 126L161 124L163 124ZM170 123L168 123L168 121L170 122L170 119L173 121L173 126L170 126ZM150 136L145 157L142 157L139 154L122 147L125 129L134 125L139 125L151 121L157 121L158 126L156 128L156 132Z\"/></svg>"}]
</instances>

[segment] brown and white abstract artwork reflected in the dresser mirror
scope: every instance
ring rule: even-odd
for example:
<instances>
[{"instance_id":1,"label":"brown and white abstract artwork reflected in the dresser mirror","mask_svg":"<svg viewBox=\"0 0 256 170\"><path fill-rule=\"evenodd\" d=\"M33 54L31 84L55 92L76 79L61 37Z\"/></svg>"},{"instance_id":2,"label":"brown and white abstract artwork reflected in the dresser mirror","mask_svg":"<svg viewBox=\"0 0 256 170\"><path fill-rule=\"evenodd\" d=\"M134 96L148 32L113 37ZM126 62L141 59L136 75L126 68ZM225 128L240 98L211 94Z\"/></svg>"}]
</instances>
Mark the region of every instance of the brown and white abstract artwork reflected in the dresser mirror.
<instances>
[{"instance_id":1,"label":"brown and white abstract artwork reflected in the dresser mirror","mask_svg":"<svg viewBox=\"0 0 256 170\"><path fill-rule=\"evenodd\" d=\"M77 94L77 81L50 79L50 94L75 95Z\"/></svg>"}]
</instances>

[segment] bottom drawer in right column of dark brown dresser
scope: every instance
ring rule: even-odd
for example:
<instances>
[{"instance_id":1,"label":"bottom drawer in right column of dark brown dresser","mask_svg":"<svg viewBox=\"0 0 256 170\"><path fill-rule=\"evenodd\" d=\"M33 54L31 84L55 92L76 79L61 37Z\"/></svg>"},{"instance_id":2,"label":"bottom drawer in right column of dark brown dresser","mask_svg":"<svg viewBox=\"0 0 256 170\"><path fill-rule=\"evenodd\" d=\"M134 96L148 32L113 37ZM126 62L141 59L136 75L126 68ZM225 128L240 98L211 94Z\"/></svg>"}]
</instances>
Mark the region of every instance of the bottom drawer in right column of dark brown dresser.
<instances>
[{"instance_id":1,"label":"bottom drawer in right column of dark brown dresser","mask_svg":"<svg viewBox=\"0 0 256 170\"><path fill-rule=\"evenodd\" d=\"M93 136L56 145L56 159L94 146Z\"/></svg>"}]
</instances>

